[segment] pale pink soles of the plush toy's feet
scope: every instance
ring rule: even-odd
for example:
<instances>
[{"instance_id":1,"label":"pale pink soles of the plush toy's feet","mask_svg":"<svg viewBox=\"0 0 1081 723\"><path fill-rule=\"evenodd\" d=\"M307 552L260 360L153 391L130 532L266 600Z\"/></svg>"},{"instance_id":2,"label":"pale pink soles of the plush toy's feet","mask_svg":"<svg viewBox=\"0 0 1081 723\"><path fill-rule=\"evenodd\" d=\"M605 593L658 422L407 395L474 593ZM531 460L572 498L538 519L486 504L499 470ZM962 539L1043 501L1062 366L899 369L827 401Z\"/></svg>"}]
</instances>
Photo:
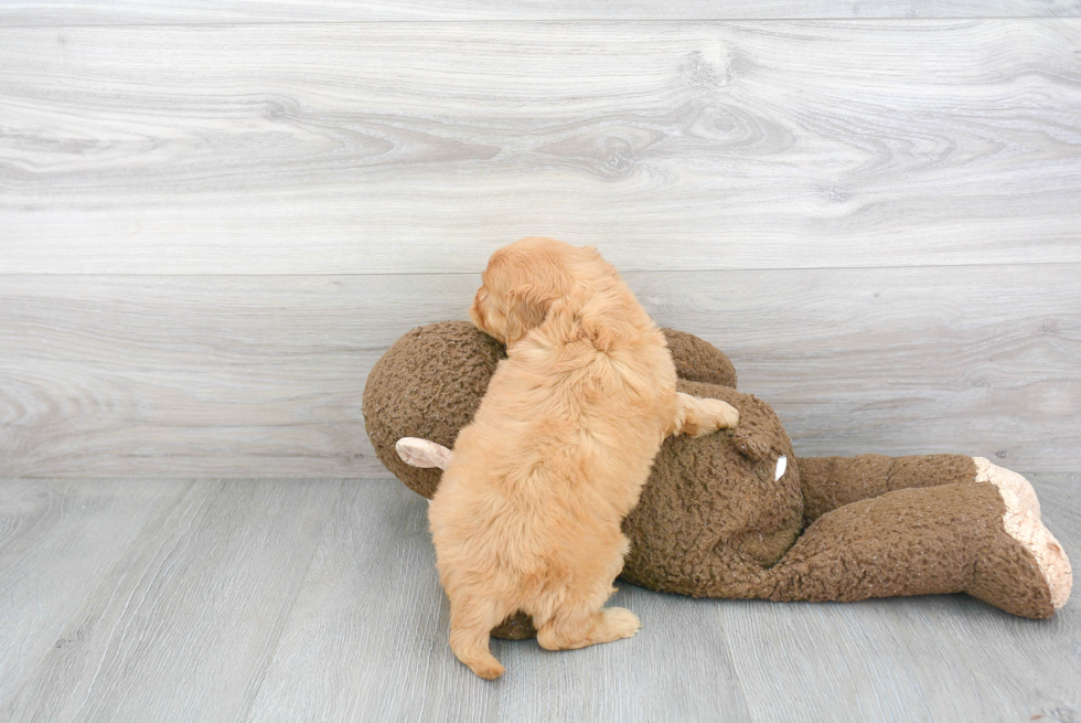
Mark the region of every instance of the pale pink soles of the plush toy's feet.
<instances>
[{"instance_id":1,"label":"pale pink soles of the plush toy's feet","mask_svg":"<svg viewBox=\"0 0 1081 723\"><path fill-rule=\"evenodd\" d=\"M994 485L1003 498L1006 506L1003 528L1006 534L1036 559L1050 593L1051 606L1061 608L1070 598L1073 571L1062 545L1040 521L1040 502L1036 490L1017 472L997 467L983 457L973 457L973 461L976 464L976 481Z\"/></svg>"}]
</instances>

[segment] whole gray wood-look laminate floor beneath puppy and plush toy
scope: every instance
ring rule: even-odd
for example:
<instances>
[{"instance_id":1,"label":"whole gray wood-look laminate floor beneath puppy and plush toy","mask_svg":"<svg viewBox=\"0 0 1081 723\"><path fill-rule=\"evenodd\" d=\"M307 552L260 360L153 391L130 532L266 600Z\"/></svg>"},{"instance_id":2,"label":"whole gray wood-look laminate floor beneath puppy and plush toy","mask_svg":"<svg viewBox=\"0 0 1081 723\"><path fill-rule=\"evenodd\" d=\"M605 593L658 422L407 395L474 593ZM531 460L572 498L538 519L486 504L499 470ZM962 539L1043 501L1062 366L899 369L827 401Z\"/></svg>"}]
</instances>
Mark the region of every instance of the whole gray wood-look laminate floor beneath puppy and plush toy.
<instances>
[{"instance_id":1,"label":"whole gray wood-look laminate floor beneath puppy and plush toy","mask_svg":"<svg viewBox=\"0 0 1081 723\"><path fill-rule=\"evenodd\" d=\"M1081 475L1030 476L1077 559ZM3 721L1078 721L1081 607L965 596L613 602L638 637L447 647L426 503L394 480L0 481Z\"/></svg>"}]
</instances>

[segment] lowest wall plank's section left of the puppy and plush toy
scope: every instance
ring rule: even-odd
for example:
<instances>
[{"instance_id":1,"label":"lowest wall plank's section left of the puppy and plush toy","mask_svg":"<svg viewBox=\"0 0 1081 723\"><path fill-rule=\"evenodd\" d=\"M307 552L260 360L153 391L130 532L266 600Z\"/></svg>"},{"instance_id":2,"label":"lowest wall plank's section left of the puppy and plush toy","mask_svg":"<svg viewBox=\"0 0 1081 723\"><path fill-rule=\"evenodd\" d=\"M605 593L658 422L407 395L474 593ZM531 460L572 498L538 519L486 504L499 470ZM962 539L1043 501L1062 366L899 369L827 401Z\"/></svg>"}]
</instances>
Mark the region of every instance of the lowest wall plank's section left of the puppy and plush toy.
<instances>
[{"instance_id":1,"label":"lowest wall plank's section left of the puppy and plush toy","mask_svg":"<svg viewBox=\"0 0 1081 723\"><path fill-rule=\"evenodd\" d=\"M409 328L463 308L448 297L468 284L453 280L431 293L427 277L7 277L0 466L385 474L364 379Z\"/></svg>"}]
</instances>

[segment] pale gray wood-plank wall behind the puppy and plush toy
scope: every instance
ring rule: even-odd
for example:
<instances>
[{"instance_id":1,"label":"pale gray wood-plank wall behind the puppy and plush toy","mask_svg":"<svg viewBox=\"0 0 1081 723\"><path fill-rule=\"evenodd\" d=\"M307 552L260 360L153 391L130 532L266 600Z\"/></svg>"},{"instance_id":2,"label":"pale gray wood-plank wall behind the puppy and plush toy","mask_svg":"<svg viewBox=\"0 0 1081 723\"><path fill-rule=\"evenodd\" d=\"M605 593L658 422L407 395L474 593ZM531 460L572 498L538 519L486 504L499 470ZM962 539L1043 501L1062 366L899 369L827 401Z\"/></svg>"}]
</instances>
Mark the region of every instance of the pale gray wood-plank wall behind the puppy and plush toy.
<instances>
[{"instance_id":1,"label":"pale gray wood-plank wall behind the puppy and plush toy","mask_svg":"<svg viewBox=\"0 0 1081 723\"><path fill-rule=\"evenodd\" d=\"M1081 2L86 0L0 6L0 477L386 475L527 234L801 454L1081 469Z\"/></svg>"}]
</instances>

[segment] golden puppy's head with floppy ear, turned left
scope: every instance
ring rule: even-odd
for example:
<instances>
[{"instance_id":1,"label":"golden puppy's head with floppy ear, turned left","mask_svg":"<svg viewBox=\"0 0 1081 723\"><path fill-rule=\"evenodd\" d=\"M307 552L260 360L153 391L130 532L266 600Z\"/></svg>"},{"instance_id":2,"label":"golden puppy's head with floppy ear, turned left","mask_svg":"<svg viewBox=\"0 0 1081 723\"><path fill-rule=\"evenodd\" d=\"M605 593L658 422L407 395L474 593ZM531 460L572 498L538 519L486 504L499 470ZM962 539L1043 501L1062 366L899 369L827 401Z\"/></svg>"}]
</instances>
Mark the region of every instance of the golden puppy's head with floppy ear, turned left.
<instances>
[{"instance_id":1,"label":"golden puppy's head with floppy ear, turned left","mask_svg":"<svg viewBox=\"0 0 1081 723\"><path fill-rule=\"evenodd\" d=\"M543 236L504 246L488 262L469 318L511 345L540 326L559 299L581 290L581 266L595 258L600 258L596 248Z\"/></svg>"}]
</instances>

